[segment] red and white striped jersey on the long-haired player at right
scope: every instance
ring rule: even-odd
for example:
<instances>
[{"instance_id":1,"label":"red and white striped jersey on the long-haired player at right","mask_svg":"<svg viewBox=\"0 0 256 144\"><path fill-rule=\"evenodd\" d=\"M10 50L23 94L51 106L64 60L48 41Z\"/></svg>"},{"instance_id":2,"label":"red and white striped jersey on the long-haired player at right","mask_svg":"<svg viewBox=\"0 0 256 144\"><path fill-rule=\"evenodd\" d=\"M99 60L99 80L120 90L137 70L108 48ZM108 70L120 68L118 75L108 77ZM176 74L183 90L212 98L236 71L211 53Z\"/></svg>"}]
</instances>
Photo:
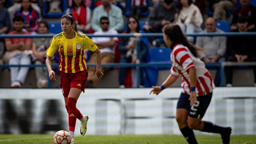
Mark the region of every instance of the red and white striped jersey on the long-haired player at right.
<instances>
[{"instance_id":1,"label":"red and white striped jersey on the long-haired player at right","mask_svg":"<svg viewBox=\"0 0 256 144\"><path fill-rule=\"evenodd\" d=\"M205 68L205 64L196 58L186 46L176 44L171 53L172 68L171 74L175 77L182 76L181 87L185 94L190 95L189 68L195 67L197 82L195 92L197 96L207 95L212 92L215 85L212 76Z\"/></svg>"}]
</instances>

